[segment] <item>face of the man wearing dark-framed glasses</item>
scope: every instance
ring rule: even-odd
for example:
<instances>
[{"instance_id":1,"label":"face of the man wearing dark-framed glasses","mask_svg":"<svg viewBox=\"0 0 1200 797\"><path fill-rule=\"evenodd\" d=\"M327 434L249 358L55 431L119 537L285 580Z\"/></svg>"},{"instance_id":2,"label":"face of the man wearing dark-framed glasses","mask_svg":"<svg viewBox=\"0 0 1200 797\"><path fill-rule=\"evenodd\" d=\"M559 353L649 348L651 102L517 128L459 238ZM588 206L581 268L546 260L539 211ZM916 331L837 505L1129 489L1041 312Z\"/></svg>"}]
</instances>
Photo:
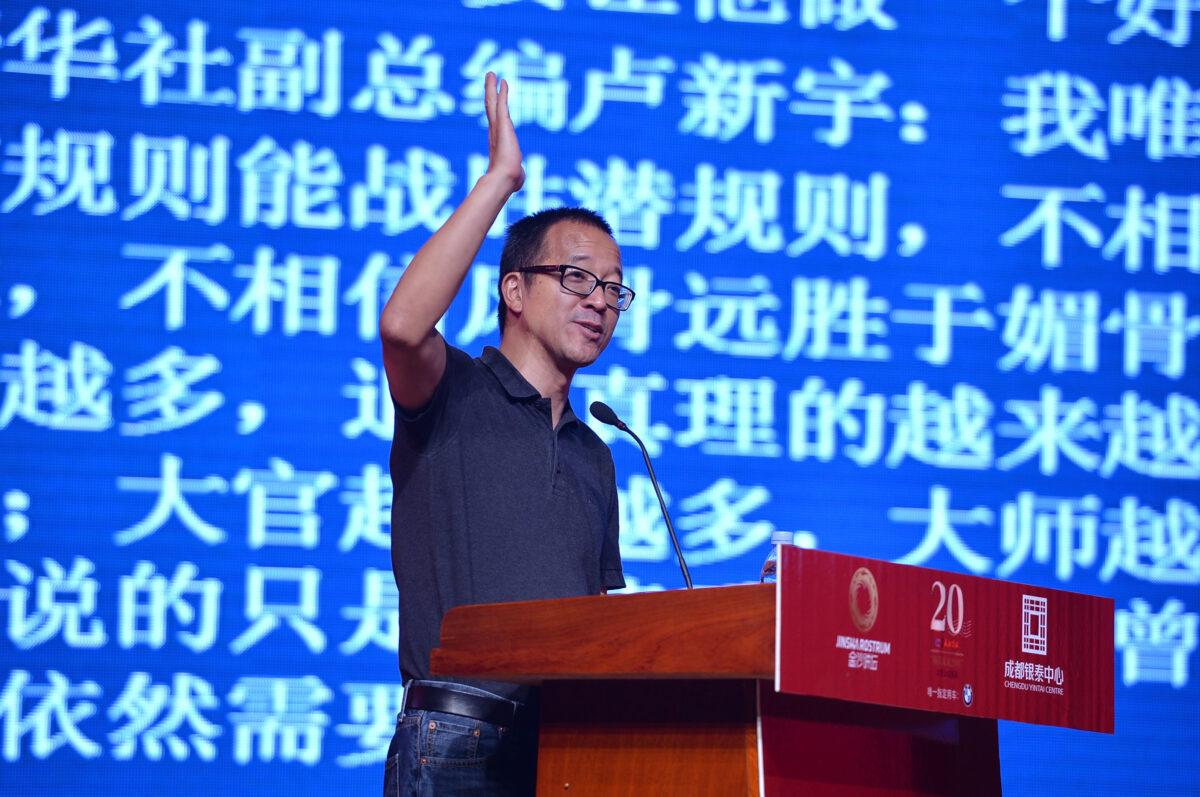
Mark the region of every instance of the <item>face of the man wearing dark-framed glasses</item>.
<instances>
[{"instance_id":1,"label":"face of the man wearing dark-framed glasses","mask_svg":"<svg viewBox=\"0 0 1200 797\"><path fill-rule=\"evenodd\" d=\"M606 282L620 282L620 250L602 229L560 221L546 230L538 265L577 265ZM566 290L559 275L535 274L524 290L524 317L530 332L559 364L574 371L595 361L617 326L620 313L596 288L581 296Z\"/></svg>"}]
</instances>

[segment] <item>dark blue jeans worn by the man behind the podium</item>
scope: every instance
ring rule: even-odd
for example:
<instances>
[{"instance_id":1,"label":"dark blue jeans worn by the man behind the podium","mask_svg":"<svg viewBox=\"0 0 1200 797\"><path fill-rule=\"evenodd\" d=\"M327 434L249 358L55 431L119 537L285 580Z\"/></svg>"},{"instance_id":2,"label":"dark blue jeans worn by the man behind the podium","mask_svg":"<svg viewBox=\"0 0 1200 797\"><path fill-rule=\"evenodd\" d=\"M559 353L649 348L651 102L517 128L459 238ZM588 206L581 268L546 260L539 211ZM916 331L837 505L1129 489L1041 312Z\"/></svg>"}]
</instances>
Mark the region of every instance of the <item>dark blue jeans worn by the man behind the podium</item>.
<instances>
[{"instance_id":1,"label":"dark blue jeans worn by the man behind the podium","mask_svg":"<svg viewBox=\"0 0 1200 797\"><path fill-rule=\"evenodd\" d=\"M490 691L460 683L421 683L473 695ZM532 707L530 707L532 708ZM514 727L442 712L406 709L388 748L384 797L533 795L538 777L538 718L517 713Z\"/></svg>"}]
</instances>

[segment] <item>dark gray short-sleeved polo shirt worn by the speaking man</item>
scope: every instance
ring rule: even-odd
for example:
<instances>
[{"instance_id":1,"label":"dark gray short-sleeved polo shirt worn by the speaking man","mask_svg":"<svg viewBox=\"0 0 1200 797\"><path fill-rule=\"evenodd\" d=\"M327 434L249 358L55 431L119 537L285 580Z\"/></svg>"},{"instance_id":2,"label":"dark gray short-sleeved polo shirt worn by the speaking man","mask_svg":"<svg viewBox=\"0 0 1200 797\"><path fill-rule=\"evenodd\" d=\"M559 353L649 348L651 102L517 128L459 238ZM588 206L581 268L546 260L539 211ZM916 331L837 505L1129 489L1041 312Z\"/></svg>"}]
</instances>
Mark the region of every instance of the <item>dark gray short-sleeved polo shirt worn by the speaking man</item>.
<instances>
[{"instance_id":1,"label":"dark gray short-sleeved polo shirt worn by the speaking man","mask_svg":"<svg viewBox=\"0 0 1200 797\"><path fill-rule=\"evenodd\" d=\"M550 421L550 400L492 347L472 359L448 344L430 403L396 408L391 567L406 683L430 677L454 606L625 586L612 453L570 405L558 429Z\"/></svg>"}]
</instances>

